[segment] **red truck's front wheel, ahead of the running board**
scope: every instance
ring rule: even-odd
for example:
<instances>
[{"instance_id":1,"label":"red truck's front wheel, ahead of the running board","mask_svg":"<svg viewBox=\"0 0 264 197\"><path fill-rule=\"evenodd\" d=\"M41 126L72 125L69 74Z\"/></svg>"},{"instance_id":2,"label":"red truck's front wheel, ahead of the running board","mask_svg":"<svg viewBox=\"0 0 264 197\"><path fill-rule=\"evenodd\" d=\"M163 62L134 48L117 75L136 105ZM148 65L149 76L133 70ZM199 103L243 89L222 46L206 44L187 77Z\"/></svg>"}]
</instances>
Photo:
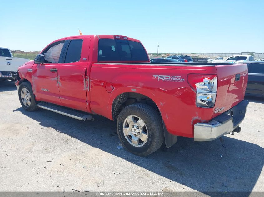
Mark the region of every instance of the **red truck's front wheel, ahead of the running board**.
<instances>
[{"instance_id":1,"label":"red truck's front wheel, ahead of the running board","mask_svg":"<svg viewBox=\"0 0 264 197\"><path fill-rule=\"evenodd\" d=\"M23 82L20 84L18 88L18 96L19 101L25 110L36 111L38 109L30 82Z\"/></svg>"}]
</instances>

